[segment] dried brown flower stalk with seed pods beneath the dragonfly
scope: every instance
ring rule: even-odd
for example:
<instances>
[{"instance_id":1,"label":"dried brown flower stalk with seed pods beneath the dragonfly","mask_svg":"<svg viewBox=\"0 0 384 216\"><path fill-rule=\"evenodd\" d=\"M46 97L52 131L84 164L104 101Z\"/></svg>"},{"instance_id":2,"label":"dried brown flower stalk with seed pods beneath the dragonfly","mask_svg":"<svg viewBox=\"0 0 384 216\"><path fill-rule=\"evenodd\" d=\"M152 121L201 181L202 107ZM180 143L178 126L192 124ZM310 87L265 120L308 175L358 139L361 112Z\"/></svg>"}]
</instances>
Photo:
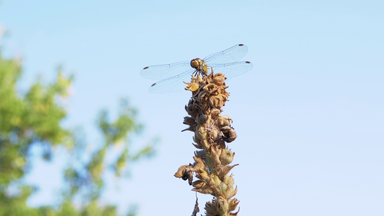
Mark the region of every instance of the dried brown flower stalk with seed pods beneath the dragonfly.
<instances>
[{"instance_id":1,"label":"dried brown flower stalk with seed pods beneath the dragonfly","mask_svg":"<svg viewBox=\"0 0 384 216\"><path fill-rule=\"evenodd\" d=\"M212 69L209 75L192 75L191 82L185 83L185 90L192 91L192 97L185 106L185 111L190 116L184 117L183 122L189 127L183 131L195 133L193 145L199 150L195 151L193 157L195 163L180 166L175 177L188 180L189 185L194 187L192 191L215 197L205 203L207 216L238 214L238 211L232 213L239 203L236 198L232 198L237 193L237 186L233 189L233 174L228 175L238 164L228 165L232 163L235 153L225 144L234 141L237 135L231 127L232 119L221 115L222 106L229 96L225 79L227 78L222 73L214 75ZM198 180L193 181L193 173ZM192 215L196 215L197 211L195 208Z\"/></svg>"}]
</instances>

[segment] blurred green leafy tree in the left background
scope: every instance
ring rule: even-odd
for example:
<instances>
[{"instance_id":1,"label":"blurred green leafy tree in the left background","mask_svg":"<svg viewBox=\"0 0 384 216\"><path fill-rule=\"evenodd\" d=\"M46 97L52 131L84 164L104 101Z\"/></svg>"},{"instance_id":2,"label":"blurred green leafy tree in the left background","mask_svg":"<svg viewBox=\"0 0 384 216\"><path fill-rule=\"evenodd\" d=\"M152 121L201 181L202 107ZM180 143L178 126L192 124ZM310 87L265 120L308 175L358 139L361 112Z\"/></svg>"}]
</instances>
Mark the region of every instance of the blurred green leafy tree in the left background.
<instances>
[{"instance_id":1,"label":"blurred green leafy tree in the left background","mask_svg":"<svg viewBox=\"0 0 384 216\"><path fill-rule=\"evenodd\" d=\"M20 60L3 59L0 52L0 216L117 216L116 206L98 204L104 187L102 174L112 167L119 177L127 163L154 153L151 144L135 154L126 145L128 135L142 128L136 123L136 111L123 101L116 121L110 122L108 112L101 112L98 126L105 142L88 156L90 160L80 160L87 158L86 145L76 139L76 130L60 125L66 111L58 99L68 96L72 76L66 78L59 69L55 83L43 85L39 80L25 94L20 94L16 84L21 71ZM68 161L64 171L67 185L63 186L62 202L58 206L31 208L26 204L36 190L22 181L30 168L28 153L34 145L43 146L45 160L51 158L52 148L64 147L76 153L71 154L73 157L77 155L77 160ZM106 154L116 146L123 150L114 163L107 164Z\"/></svg>"}]
</instances>

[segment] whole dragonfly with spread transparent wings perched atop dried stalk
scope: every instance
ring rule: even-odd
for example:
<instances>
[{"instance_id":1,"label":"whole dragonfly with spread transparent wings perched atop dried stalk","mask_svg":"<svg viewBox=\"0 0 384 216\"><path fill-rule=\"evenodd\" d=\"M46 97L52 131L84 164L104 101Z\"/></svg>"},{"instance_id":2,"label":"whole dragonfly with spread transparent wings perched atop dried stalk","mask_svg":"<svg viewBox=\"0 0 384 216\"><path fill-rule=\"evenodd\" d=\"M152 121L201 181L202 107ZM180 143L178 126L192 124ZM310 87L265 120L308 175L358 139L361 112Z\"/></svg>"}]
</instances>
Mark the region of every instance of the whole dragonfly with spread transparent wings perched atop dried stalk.
<instances>
[{"instance_id":1,"label":"whole dragonfly with spread transparent wings perched atop dried stalk","mask_svg":"<svg viewBox=\"0 0 384 216\"><path fill-rule=\"evenodd\" d=\"M151 93L184 91L184 81L189 82L192 75L207 75L211 67L215 72L223 73L227 80L251 70L252 63L239 61L247 52L247 46L238 44L204 59L195 58L169 65L148 66L141 70L140 75L151 80L161 80L149 87Z\"/></svg>"}]
</instances>

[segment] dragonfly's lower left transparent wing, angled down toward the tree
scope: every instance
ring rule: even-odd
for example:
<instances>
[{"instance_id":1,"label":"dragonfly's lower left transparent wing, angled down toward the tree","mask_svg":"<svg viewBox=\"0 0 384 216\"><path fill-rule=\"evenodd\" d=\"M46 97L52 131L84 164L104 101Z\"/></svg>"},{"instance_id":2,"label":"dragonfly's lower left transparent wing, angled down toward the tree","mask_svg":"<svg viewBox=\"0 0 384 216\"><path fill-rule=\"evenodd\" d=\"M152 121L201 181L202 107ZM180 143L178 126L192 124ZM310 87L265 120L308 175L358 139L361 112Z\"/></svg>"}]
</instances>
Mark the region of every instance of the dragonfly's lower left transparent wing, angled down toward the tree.
<instances>
[{"instance_id":1,"label":"dragonfly's lower left transparent wing, angled down toward the tree","mask_svg":"<svg viewBox=\"0 0 384 216\"><path fill-rule=\"evenodd\" d=\"M185 71L177 76L172 76L165 80L158 81L149 87L149 92L151 93L167 93L167 92L177 92L184 91L187 84L183 81L190 82L190 77L195 69L190 68L190 70Z\"/></svg>"}]
</instances>

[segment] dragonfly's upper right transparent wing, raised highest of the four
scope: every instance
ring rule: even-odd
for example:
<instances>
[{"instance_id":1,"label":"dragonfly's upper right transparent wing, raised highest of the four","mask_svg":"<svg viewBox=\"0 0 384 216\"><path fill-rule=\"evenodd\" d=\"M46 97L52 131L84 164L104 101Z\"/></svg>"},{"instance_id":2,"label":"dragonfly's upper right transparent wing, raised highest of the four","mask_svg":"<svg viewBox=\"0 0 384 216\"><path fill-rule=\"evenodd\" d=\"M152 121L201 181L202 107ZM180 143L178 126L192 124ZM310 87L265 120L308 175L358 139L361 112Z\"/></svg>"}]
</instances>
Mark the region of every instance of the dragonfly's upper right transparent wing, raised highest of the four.
<instances>
[{"instance_id":1,"label":"dragonfly's upper right transparent wing, raised highest of the four","mask_svg":"<svg viewBox=\"0 0 384 216\"><path fill-rule=\"evenodd\" d=\"M227 64L242 59L248 52L248 47L243 44L233 46L223 52L214 53L204 58L204 63L209 64Z\"/></svg>"}]
</instances>

